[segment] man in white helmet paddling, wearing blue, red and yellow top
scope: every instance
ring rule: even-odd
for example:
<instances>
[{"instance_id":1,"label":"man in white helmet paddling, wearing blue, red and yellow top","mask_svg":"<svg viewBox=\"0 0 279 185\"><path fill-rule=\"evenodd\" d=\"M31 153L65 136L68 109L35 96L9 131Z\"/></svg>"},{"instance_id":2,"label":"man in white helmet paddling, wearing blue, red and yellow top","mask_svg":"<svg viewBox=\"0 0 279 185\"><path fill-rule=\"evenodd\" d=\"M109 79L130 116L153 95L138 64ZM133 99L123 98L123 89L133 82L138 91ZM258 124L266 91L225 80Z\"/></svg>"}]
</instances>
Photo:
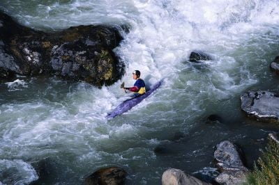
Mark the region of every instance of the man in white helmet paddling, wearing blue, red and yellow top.
<instances>
[{"instance_id":1,"label":"man in white helmet paddling, wearing blue, red and yellow top","mask_svg":"<svg viewBox=\"0 0 279 185\"><path fill-rule=\"evenodd\" d=\"M145 83L143 79L140 79L140 71L139 70L135 70L133 72L133 79L135 79L135 84L133 87L131 88L123 88L124 90L130 90L131 92L133 92L133 97L139 97L140 95L143 95L146 90L145 90Z\"/></svg>"}]
</instances>

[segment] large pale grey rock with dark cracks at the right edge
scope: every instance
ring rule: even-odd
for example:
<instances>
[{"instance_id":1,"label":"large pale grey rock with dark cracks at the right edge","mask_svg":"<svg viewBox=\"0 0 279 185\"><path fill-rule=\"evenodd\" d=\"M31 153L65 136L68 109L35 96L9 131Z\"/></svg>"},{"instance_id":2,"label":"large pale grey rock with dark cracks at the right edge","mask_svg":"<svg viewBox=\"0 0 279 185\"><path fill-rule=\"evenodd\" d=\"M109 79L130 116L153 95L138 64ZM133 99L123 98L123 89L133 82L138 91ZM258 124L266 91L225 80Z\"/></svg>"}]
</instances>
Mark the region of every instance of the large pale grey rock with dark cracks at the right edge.
<instances>
[{"instance_id":1,"label":"large pale grey rock with dark cracks at the right edge","mask_svg":"<svg viewBox=\"0 0 279 185\"><path fill-rule=\"evenodd\" d=\"M267 90L248 91L241 95L241 109L260 120L279 118L279 93Z\"/></svg>"}]
</instances>

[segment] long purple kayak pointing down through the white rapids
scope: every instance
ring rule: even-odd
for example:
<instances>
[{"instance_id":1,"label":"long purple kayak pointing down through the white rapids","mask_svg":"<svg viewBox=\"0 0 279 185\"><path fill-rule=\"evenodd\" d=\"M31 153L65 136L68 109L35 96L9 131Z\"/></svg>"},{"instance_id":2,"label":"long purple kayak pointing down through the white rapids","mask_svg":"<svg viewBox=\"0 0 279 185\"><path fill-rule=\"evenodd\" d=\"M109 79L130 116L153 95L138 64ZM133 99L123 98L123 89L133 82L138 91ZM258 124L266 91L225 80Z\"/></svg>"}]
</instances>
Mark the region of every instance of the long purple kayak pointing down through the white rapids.
<instances>
[{"instance_id":1,"label":"long purple kayak pointing down through the white rapids","mask_svg":"<svg viewBox=\"0 0 279 185\"><path fill-rule=\"evenodd\" d=\"M117 115L121 115L122 113L125 113L129 111L133 106L136 106L137 104L140 104L142 100L144 100L146 97L149 97L151 93L153 93L157 88L159 88L162 84L163 80L158 81L151 90L144 93L144 95L141 95L140 97L134 97L132 99L127 99L125 102L122 102L119 104L119 106L116 106L114 110L107 114L106 118L114 118Z\"/></svg>"}]
</instances>

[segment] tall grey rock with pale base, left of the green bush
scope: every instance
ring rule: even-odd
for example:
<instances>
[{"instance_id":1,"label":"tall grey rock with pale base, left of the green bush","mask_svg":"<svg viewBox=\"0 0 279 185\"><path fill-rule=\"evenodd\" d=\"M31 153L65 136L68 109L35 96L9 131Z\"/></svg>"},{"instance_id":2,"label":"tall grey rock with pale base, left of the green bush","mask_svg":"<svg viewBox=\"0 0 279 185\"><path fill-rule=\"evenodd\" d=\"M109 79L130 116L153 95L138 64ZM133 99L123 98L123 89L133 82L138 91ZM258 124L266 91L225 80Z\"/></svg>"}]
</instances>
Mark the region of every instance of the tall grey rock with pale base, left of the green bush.
<instances>
[{"instance_id":1,"label":"tall grey rock with pale base, left of the green bush","mask_svg":"<svg viewBox=\"0 0 279 185\"><path fill-rule=\"evenodd\" d=\"M214 159L221 173L215 181L219 184L243 184L246 182L248 169L243 165L239 148L228 140L216 145Z\"/></svg>"}]
</instances>

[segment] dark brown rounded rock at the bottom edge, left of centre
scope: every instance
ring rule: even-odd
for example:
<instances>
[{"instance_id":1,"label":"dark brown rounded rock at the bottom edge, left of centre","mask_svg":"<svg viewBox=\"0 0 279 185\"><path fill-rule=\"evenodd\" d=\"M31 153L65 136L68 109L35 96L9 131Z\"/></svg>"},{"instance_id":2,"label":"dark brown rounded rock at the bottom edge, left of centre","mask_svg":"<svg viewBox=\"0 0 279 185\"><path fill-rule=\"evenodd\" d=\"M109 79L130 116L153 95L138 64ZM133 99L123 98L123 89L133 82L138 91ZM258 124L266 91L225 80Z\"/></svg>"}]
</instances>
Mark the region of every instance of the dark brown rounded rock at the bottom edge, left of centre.
<instances>
[{"instance_id":1,"label":"dark brown rounded rock at the bottom edge, left of centre","mask_svg":"<svg viewBox=\"0 0 279 185\"><path fill-rule=\"evenodd\" d=\"M102 168L86 177L86 185L124 184L127 172L118 167Z\"/></svg>"}]
</instances>

